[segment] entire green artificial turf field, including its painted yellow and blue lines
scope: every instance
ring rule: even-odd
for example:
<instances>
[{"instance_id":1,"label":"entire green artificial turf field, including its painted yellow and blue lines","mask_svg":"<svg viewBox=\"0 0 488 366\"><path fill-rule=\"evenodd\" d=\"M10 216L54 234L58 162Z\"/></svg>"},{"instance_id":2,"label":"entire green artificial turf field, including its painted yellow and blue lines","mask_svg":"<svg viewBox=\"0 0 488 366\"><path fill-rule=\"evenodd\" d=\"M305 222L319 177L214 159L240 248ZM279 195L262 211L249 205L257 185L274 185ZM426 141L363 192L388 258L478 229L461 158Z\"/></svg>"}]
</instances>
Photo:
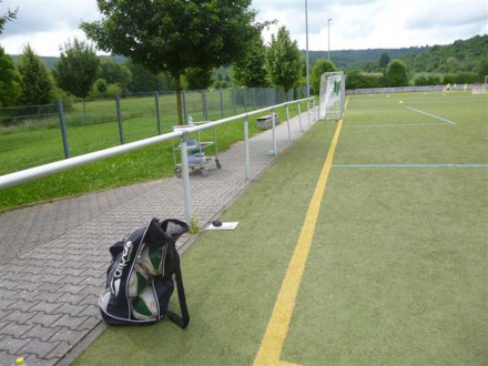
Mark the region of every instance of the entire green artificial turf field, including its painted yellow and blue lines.
<instances>
[{"instance_id":1,"label":"entire green artificial turf field, including its painted yellow and blue lines","mask_svg":"<svg viewBox=\"0 0 488 366\"><path fill-rule=\"evenodd\" d=\"M352 96L184 253L185 331L109 327L73 364L486 365L487 140L487 95Z\"/></svg>"}]
</instances>

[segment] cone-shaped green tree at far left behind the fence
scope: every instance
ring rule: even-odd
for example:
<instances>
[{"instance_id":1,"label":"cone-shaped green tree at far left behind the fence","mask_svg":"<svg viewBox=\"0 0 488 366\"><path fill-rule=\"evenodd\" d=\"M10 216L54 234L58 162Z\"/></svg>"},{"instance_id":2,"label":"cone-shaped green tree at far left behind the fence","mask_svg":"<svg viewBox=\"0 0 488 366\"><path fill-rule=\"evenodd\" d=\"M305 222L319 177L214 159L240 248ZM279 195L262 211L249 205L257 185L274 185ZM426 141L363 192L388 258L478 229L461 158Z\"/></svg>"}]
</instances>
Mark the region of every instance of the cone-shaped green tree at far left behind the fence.
<instances>
[{"instance_id":1,"label":"cone-shaped green tree at far left behind the fence","mask_svg":"<svg viewBox=\"0 0 488 366\"><path fill-rule=\"evenodd\" d=\"M54 82L48 68L35 55L30 44L24 47L17 70L20 75L20 104L42 105L49 104L55 99Z\"/></svg>"}]
</instances>

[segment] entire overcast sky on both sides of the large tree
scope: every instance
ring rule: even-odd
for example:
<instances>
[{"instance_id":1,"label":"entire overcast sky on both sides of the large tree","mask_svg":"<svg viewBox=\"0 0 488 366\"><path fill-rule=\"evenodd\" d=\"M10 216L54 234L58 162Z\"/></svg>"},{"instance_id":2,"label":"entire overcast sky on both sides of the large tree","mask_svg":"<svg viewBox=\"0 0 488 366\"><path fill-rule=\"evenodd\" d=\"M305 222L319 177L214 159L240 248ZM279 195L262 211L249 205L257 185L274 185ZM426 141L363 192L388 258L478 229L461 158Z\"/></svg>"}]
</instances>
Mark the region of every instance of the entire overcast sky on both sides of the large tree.
<instances>
[{"instance_id":1,"label":"entire overcast sky on both sides of the large tree","mask_svg":"<svg viewBox=\"0 0 488 366\"><path fill-rule=\"evenodd\" d=\"M80 21L100 19L95 0L0 1L0 16L19 9L0 35L9 54L30 43L38 55L59 55L68 40L85 39ZM305 3L311 51L448 44L488 33L487 0L253 0L257 21L278 21L263 34L265 41L285 26L305 50Z\"/></svg>"}]
</instances>

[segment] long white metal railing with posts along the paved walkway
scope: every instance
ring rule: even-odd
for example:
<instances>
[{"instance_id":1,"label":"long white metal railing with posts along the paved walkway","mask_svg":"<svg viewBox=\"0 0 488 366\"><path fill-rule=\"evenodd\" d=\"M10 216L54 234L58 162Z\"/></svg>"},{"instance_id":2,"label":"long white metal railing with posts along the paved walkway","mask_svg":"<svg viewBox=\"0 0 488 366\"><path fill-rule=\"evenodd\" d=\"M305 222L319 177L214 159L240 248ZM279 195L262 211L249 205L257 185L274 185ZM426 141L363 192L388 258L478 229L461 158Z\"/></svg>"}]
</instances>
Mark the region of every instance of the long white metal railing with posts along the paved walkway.
<instances>
[{"instance_id":1,"label":"long white metal railing with posts along the paved walkway","mask_svg":"<svg viewBox=\"0 0 488 366\"><path fill-rule=\"evenodd\" d=\"M149 138L131 143L126 143L123 145L109 148L100 151L95 151L92 153L88 153L84 155L79 155L74 157L69 157L62 161L27 169L23 171L6 174L0 176L0 190L7 189L10 186L14 186L34 179L39 179L42 176L51 175L54 173L63 172L80 165L85 165L91 162L104 160L111 156L120 155L130 151L134 151L138 149L142 149L145 146L150 146L160 142L173 140L173 139L180 139L180 150L181 150L181 162L182 162L182 177L183 177L183 191L184 191L184 205L185 205L185 218L186 222L191 222L192 217L192 207L191 207L191 193L190 193L190 175L189 175L189 159L187 159L187 151L186 151L186 139L187 135L194 132L204 131L214 129L221 124L230 123L236 120L243 120L244 121L244 159L245 159L245 177L248 180L251 179L251 162L250 162L250 138L248 138L248 118L256 114L263 114L265 112L274 113L274 110L277 108L285 106L286 108L286 122L288 128L288 140L292 140L291 136L291 128L289 128L289 112L288 112L288 105L297 104L298 105L298 115L299 115L299 123L301 123L301 130L302 130L302 118L301 118L301 103L307 103L307 114L309 119L309 111L311 111L311 103L313 103L313 106L315 106L315 99L314 98L305 98L296 101L285 102L267 108L263 108L256 111L246 112L243 114L230 116L226 119L221 119L214 122L209 122L205 124L200 124L195 126L185 126L184 129L175 129L173 132L165 133L162 135L157 135L154 138ZM314 116L315 118L315 116ZM275 134L275 120L272 119L272 129L273 129L273 152L274 154L277 154L277 148L276 148L276 134ZM309 121L308 121L309 122ZM303 130L302 130L303 131Z\"/></svg>"}]
</instances>

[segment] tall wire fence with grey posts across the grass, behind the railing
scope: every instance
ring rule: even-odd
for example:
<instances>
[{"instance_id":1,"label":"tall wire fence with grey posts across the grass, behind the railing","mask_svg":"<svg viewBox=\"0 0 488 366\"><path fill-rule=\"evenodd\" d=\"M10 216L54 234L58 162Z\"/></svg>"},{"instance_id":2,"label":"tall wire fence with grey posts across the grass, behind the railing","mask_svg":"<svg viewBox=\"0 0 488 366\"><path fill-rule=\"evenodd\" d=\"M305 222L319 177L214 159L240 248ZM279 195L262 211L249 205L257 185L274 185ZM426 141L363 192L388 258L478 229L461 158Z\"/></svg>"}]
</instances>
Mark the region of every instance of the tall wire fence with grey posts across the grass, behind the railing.
<instances>
[{"instance_id":1,"label":"tall wire fence with grey posts across the grass, behind the railing","mask_svg":"<svg viewBox=\"0 0 488 366\"><path fill-rule=\"evenodd\" d=\"M304 96L276 89L183 91L185 121L213 121ZM177 124L176 93L0 108L0 175L138 141Z\"/></svg>"}]
</instances>

